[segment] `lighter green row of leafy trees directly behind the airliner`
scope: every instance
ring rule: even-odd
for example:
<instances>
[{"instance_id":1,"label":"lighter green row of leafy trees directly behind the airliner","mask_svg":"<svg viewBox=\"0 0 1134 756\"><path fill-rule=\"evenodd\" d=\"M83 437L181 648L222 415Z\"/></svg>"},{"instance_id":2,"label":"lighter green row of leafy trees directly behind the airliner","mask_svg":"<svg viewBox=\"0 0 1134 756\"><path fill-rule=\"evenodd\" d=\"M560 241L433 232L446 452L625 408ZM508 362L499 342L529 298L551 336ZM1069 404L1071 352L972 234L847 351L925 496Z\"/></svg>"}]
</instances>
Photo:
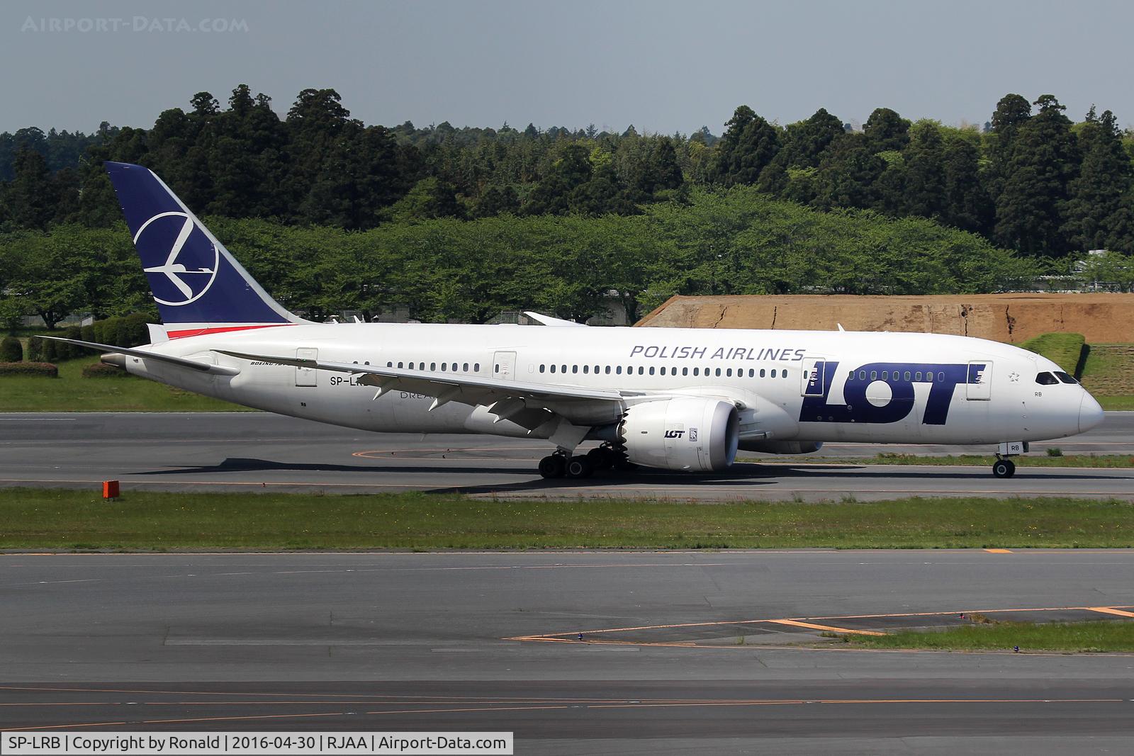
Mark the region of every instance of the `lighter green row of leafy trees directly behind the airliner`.
<instances>
[{"instance_id":1,"label":"lighter green row of leafy trees directly behind the airliner","mask_svg":"<svg viewBox=\"0 0 1134 756\"><path fill-rule=\"evenodd\" d=\"M364 231L263 219L204 222L286 307L322 321L406 307L422 321L480 323L534 308L584 321L611 298L631 321L675 294L911 295L1027 286L1043 266L978 235L873 211L820 212L751 186L693 188L635 215L501 214L384 223ZM153 303L125 223L0 235L0 318L49 325Z\"/></svg>"}]
</instances>

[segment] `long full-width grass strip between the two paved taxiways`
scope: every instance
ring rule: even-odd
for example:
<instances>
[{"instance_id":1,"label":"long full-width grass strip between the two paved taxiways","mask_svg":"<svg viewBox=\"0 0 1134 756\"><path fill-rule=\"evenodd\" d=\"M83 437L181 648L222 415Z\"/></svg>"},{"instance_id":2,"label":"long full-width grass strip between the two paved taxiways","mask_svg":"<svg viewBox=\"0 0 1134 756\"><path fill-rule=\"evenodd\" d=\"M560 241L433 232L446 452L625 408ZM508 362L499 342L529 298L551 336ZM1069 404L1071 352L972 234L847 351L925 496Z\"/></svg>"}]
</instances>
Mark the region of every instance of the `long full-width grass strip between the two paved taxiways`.
<instances>
[{"instance_id":1,"label":"long full-width grass strip between the two paved taxiways","mask_svg":"<svg viewBox=\"0 0 1134 756\"><path fill-rule=\"evenodd\" d=\"M0 549L729 549L1134 546L1134 503L494 501L0 490Z\"/></svg>"}]
</instances>

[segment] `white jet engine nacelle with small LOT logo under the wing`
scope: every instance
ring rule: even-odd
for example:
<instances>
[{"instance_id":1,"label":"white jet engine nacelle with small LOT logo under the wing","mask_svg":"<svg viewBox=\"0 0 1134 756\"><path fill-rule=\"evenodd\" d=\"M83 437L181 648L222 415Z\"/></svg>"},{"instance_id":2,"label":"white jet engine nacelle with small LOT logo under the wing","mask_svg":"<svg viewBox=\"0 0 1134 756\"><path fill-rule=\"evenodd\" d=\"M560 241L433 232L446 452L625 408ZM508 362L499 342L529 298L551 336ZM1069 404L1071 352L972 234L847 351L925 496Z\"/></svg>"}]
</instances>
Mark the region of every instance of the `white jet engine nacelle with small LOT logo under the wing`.
<instances>
[{"instance_id":1,"label":"white jet engine nacelle with small LOT logo under the wing","mask_svg":"<svg viewBox=\"0 0 1134 756\"><path fill-rule=\"evenodd\" d=\"M618 426L632 462L667 470L722 470L736 458L739 418L721 399L688 397L633 405Z\"/></svg>"}]
</instances>

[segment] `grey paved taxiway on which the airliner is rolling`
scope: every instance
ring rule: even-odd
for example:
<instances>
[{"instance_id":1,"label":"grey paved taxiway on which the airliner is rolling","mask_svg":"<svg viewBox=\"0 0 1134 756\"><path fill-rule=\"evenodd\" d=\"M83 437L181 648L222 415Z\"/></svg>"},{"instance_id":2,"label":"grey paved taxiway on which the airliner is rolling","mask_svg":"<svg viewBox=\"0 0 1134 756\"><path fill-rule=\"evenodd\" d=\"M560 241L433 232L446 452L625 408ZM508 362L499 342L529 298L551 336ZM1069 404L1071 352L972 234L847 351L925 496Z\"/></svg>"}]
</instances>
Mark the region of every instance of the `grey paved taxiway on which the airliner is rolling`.
<instances>
[{"instance_id":1,"label":"grey paved taxiway on which the airliner is rolling","mask_svg":"<svg viewBox=\"0 0 1134 756\"><path fill-rule=\"evenodd\" d=\"M1095 431L1049 445L1065 453L1134 455L1134 413L1108 413ZM823 459L738 462L720 474L657 470L544 481L547 443L477 435L375 434L261 413L3 414L0 485L125 490L459 492L483 496L635 496L686 500L887 499L909 495L1134 498L1134 470L1022 468L1012 479L983 467L845 466L839 457L988 453L985 447L830 444ZM746 456L755 459L755 456Z\"/></svg>"}]
</instances>

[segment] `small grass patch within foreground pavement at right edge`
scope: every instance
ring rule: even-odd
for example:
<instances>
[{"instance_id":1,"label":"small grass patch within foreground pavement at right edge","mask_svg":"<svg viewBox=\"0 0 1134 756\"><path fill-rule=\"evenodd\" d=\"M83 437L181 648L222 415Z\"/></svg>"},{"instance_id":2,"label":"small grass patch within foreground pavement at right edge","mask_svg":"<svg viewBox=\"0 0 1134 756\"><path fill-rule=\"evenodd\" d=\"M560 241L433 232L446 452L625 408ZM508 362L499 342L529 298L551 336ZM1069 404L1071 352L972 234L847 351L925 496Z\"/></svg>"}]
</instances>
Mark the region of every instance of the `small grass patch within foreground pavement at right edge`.
<instances>
[{"instance_id":1,"label":"small grass patch within foreground pavement at right edge","mask_svg":"<svg viewBox=\"0 0 1134 756\"><path fill-rule=\"evenodd\" d=\"M900 630L883 636L840 636L869 648L932 648L938 651L1116 652L1134 651L1134 621L990 622L948 630Z\"/></svg>"}]
</instances>

